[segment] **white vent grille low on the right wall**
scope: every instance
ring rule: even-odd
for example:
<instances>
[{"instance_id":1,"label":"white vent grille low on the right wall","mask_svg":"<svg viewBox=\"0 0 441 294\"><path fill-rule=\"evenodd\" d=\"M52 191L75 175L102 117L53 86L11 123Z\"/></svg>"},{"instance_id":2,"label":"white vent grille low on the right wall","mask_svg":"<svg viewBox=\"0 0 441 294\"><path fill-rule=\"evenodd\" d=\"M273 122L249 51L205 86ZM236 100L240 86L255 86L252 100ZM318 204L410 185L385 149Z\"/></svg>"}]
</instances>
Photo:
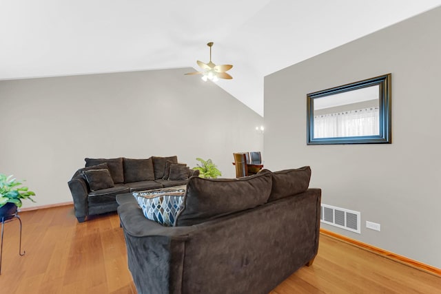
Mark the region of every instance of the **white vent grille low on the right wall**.
<instances>
[{"instance_id":1,"label":"white vent grille low on the right wall","mask_svg":"<svg viewBox=\"0 0 441 294\"><path fill-rule=\"evenodd\" d=\"M322 204L320 222L355 233L360 231L360 211Z\"/></svg>"}]
</instances>

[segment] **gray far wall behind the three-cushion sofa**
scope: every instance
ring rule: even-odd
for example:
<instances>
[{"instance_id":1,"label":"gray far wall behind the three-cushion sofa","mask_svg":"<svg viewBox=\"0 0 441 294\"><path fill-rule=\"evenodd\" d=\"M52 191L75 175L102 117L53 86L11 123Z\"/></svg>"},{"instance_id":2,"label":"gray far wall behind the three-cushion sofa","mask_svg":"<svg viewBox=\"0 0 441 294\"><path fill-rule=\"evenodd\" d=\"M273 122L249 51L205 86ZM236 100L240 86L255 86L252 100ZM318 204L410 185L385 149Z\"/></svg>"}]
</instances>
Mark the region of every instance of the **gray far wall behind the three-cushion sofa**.
<instances>
[{"instance_id":1,"label":"gray far wall behind the three-cushion sofa","mask_svg":"<svg viewBox=\"0 0 441 294\"><path fill-rule=\"evenodd\" d=\"M0 173L26 179L43 206L72 201L84 158L212 158L236 175L234 151L263 151L263 118L192 68L0 81Z\"/></svg>"}]
</instances>

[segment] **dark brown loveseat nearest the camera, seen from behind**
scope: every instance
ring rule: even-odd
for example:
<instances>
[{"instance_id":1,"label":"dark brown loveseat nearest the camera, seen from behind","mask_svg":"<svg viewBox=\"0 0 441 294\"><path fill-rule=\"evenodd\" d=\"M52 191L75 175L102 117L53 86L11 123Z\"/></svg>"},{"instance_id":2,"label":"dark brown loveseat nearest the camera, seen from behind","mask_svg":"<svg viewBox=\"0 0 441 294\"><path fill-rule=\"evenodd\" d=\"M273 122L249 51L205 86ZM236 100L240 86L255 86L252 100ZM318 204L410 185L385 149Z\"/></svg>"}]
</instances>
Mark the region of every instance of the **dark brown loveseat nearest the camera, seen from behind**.
<instances>
[{"instance_id":1,"label":"dark brown loveseat nearest the camera, seen from behind","mask_svg":"<svg viewBox=\"0 0 441 294\"><path fill-rule=\"evenodd\" d=\"M309 167L187 183L174 227L118 208L139 294L269 293L318 250L320 189Z\"/></svg>"}]
</instances>

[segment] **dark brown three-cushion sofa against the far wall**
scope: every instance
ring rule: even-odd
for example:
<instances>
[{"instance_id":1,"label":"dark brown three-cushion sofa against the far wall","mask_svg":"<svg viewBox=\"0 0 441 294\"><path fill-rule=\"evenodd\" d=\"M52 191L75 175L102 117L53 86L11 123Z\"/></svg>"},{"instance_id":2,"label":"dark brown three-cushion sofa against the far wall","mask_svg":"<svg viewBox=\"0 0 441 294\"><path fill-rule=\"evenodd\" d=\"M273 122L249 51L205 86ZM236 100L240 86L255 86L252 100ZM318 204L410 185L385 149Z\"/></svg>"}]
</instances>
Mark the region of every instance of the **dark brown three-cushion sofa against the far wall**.
<instances>
[{"instance_id":1,"label":"dark brown three-cushion sofa against the far wall","mask_svg":"<svg viewBox=\"0 0 441 294\"><path fill-rule=\"evenodd\" d=\"M116 195L187 184L199 171L178 164L177 156L152 156L146 159L85 158L85 167L68 182L74 200L75 216L116 211Z\"/></svg>"}]
</instances>

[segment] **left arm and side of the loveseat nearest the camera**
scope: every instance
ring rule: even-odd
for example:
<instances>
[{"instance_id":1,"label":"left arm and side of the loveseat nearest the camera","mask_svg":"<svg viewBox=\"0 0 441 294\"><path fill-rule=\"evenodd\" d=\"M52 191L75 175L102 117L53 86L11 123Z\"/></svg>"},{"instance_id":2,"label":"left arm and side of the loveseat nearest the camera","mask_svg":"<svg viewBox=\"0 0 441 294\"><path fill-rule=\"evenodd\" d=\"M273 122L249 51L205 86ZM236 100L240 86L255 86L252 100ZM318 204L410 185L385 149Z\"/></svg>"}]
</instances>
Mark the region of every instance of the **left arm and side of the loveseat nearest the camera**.
<instances>
[{"instance_id":1,"label":"left arm and side of the loveseat nearest the camera","mask_svg":"<svg viewBox=\"0 0 441 294\"><path fill-rule=\"evenodd\" d=\"M138 293L181 294L185 242L194 227L163 227L143 215L136 200L118 207L127 264Z\"/></svg>"}]
</instances>

